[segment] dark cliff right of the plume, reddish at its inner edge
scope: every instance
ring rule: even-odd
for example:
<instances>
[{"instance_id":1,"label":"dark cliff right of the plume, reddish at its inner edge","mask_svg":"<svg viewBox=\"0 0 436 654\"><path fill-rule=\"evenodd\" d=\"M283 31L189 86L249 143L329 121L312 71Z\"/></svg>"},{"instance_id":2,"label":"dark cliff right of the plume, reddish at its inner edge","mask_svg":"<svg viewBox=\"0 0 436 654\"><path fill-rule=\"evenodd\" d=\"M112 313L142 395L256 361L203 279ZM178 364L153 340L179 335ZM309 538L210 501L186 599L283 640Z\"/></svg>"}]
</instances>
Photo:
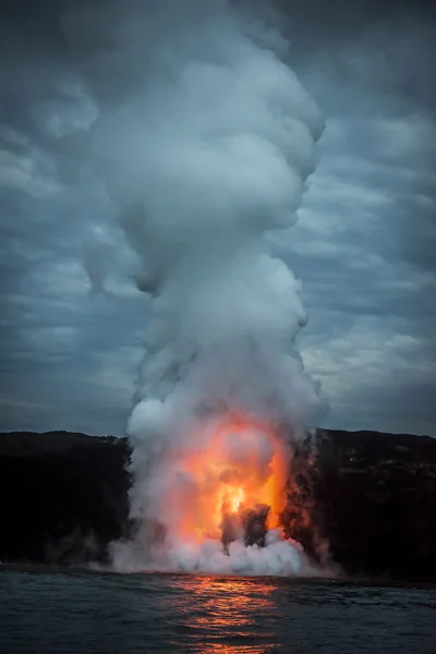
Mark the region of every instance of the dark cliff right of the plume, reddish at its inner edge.
<instances>
[{"instance_id":1,"label":"dark cliff right of the plume, reddish at its inner edge","mask_svg":"<svg viewBox=\"0 0 436 654\"><path fill-rule=\"evenodd\" d=\"M296 463L288 535L352 576L436 581L436 438L319 429L316 441L315 461Z\"/></svg>"}]
</instances>

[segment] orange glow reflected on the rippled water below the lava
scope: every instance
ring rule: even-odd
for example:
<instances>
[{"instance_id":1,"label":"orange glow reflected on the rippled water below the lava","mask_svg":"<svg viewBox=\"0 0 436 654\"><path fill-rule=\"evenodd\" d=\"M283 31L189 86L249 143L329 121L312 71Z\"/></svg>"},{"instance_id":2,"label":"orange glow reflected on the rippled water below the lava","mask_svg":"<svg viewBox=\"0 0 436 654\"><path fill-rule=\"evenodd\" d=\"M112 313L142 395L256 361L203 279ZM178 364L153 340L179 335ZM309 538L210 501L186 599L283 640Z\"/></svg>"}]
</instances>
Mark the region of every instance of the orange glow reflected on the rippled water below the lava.
<instances>
[{"instance_id":1,"label":"orange glow reflected on the rippled water below the lava","mask_svg":"<svg viewBox=\"0 0 436 654\"><path fill-rule=\"evenodd\" d=\"M190 584L191 604L196 610L182 625L190 632L195 652L261 654L276 650L275 633L268 623L274 617L275 586L259 579L254 583L251 589L246 579L201 577Z\"/></svg>"}]
</instances>

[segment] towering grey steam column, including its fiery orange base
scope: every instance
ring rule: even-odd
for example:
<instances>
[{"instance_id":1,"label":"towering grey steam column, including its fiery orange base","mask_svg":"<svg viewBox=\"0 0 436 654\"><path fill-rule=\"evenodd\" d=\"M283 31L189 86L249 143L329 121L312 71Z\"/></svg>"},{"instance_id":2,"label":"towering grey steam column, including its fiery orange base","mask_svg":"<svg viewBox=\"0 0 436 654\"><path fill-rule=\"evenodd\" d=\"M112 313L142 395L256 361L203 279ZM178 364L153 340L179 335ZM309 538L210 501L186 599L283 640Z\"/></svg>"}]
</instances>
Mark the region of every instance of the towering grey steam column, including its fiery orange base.
<instances>
[{"instance_id":1,"label":"towering grey steam column, including its fiery orange base","mask_svg":"<svg viewBox=\"0 0 436 654\"><path fill-rule=\"evenodd\" d=\"M228 0L95 7L65 31L102 44L83 70L93 152L150 298L128 425L138 531L114 565L306 573L279 516L320 401L268 232L295 221L322 117L278 35Z\"/></svg>"}]
</instances>

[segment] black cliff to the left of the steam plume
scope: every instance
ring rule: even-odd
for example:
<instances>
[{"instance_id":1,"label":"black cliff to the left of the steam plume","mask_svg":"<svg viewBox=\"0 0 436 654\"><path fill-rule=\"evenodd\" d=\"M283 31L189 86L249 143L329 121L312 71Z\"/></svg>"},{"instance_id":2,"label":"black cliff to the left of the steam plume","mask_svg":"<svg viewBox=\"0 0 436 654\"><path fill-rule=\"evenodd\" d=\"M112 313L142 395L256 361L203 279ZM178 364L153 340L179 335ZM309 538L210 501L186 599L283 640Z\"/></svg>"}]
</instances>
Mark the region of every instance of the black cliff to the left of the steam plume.
<instances>
[{"instance_id":1,"label":"black cliff to the left of the steam plume","mask_svg":"<svg viewBox=\"0 0 436 654\"><path fill-rule=\"evenodd\" d=\"M126 529L128 461L124 438L1 434L0 560L102 560Z\"/></svg>"}]
</instances>

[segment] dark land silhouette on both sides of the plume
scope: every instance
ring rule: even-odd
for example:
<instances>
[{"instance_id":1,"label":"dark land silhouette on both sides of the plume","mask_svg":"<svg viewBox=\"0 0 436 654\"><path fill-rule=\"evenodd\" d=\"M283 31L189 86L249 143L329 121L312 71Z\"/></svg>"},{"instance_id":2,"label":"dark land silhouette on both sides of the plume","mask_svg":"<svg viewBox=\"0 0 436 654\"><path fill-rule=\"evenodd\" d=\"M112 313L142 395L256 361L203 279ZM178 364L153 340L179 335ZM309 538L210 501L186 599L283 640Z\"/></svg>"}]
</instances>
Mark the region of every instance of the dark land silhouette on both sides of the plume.
<instances>
[{"instance_id":1,"label":"dark land silhouette on both sides of the plume","mask_svg":"<svg viewBox=\"0 0 436 654\"><path fill-rule=\"evenodd\" d=\"M315 440L290 471L287 534L355 577L436 581L436 438L318 429ZM0 434L0 560L107 560L133 526L129 457L124 438Z\"/></svg>"}]
</instances>

